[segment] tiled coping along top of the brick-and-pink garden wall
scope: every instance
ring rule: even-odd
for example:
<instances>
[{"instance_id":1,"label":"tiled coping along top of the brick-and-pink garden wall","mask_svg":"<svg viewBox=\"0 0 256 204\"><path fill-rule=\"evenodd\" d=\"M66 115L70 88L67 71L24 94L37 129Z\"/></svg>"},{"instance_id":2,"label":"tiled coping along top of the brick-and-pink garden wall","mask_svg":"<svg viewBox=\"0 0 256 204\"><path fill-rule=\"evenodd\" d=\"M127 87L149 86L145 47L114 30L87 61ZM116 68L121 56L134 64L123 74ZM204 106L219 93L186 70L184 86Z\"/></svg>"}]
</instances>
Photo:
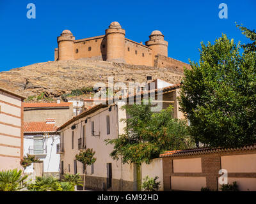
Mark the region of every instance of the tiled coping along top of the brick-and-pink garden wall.
<instances>
[{"instance_id":1,"label":"tiled coping along top of the brick-and-pink garden wall","mask_svg":"<svg viewBox=\"0 0 256 204\"><path fill-rule=\"evenodd\" d=\"M176 157L176 156L189 156L196 154L211 154L211 153L220 153L220 152L236 152L241 150L255 150L256 143L253 145L246 145L244 147L236 148L198 148L198 149L185 149L185 150L172 150L166 151L164 154L160 154L160 157Z\"/></svg>"}]
</instances>

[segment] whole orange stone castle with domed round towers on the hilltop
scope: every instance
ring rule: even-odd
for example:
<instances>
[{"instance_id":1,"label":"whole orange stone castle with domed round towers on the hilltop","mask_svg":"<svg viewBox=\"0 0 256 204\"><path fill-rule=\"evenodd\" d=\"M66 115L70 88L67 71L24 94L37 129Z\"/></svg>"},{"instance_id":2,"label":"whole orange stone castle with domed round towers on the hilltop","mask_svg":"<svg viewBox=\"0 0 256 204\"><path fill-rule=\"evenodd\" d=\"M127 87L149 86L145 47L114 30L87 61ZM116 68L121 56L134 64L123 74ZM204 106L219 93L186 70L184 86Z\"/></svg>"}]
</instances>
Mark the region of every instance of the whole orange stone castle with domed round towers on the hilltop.
<instances>
[{"instance_id":1,"label":"whole orange stone castle with domed round towers on the hilltop","mask_svg":"<svg viewBox=\"0 0 256 204\"><path fill-rule=\"evenodd\" d=\"M65 30L57 38L58 48L54 50L54 60L94 59L126 64L173 68L183 71L189 64L168 57L168 42L160 31L153 31L149 40L143 43L125 38L125 29L118 22L112 22L105 34L92 38L75 40L73 34Z\"/></svg>"}]
</instances>

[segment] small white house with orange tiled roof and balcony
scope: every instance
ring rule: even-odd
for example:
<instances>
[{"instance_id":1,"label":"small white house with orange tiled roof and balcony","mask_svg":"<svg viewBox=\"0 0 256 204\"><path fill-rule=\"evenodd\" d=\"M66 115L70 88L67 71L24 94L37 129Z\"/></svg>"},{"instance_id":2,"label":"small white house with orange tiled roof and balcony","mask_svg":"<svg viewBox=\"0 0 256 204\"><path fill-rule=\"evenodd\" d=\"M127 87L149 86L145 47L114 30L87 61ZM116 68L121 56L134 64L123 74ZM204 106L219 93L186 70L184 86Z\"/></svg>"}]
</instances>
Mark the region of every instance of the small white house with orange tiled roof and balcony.
<instances>
[{"instance_id":1,"label":"small white house with orange tiled roof and balcony","mask_svg":"<svg viewBox=\"0 0 256 204\"><path fill-rule=\"evenodd\" d=\"M32 179L36 176L60 176L60 154L57 154L60 133L57 131L55 119L44 122L24 122L24 156L30 154L40 159L33 163L24 173Z\"/></svg>"}]
</instances>

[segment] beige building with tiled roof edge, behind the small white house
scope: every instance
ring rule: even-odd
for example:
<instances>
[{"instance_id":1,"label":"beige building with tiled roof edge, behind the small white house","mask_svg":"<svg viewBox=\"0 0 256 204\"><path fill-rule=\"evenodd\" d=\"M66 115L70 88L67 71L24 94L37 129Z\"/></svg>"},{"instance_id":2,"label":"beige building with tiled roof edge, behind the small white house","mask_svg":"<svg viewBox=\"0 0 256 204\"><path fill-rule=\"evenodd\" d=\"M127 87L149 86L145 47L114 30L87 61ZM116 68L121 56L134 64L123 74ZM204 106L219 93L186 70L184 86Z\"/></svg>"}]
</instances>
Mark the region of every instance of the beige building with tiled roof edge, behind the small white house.
<instances>
[{"instance_id":1,"label":"beige building with tiled roof edge, behind the small white house","mask_svg":"<svg viewBox=\"0 0 256 204\"><path fill-rule=\"evenodd\" d=\"M24 122L53 118L56 120L56 126L60 126L73 116L72 103L24 103Z\"/></svg>"}]
</instances>

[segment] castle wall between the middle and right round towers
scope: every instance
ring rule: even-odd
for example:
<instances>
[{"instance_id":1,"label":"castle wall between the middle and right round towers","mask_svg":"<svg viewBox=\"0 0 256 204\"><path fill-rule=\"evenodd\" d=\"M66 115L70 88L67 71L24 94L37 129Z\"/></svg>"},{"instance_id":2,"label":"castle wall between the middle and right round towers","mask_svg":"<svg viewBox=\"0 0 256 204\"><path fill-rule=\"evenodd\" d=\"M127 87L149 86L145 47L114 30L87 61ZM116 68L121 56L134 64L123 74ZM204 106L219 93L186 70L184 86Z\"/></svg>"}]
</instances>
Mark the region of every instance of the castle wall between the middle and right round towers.
<instances>
[{"instance_id":1,"label":"castle wall between the middle and right round towers","mask_svg":"<svg viewBox=\"0 0 256 204\"><path fill-rule=\"evenodd\" d=\"M125 38L125 62L134 65L153 66L152 50L145 45Z\"/></svg>"}]
</instances>

